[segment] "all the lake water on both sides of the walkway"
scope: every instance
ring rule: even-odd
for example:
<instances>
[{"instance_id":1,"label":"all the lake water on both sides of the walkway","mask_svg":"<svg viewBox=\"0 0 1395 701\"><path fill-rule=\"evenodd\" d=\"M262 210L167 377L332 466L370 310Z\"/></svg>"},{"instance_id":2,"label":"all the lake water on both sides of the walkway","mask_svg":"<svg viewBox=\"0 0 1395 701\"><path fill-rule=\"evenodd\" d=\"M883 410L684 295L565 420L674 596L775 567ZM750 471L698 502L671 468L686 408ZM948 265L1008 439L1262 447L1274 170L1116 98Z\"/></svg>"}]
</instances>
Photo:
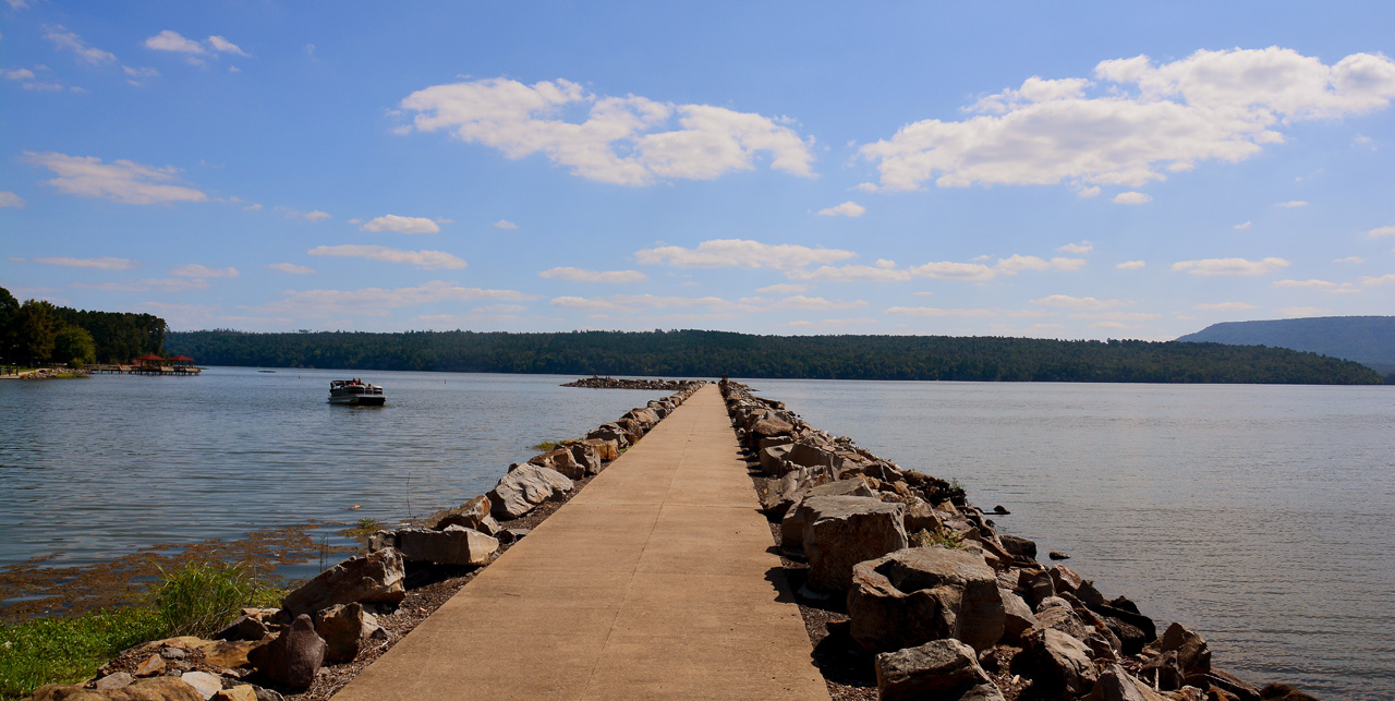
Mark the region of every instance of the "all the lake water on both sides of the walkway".
<instances>
[{"instance_id":1,"label":"all the lake water on both sides of the walkway","mask_svg":"<svg viewBox=\"0 0 1395 701\"><path fill-rule=\"evenodd\" d=\"M329 380L359 374L389 406L325 404ZM311 518L396 522L665 394L568 380L215 367L0 383L0 566ZM1000 529L1204 634L1218 666L1320 698L1395 698L1392 388L751 384L1003 504Z\"/></svg>"}]
</instances>

